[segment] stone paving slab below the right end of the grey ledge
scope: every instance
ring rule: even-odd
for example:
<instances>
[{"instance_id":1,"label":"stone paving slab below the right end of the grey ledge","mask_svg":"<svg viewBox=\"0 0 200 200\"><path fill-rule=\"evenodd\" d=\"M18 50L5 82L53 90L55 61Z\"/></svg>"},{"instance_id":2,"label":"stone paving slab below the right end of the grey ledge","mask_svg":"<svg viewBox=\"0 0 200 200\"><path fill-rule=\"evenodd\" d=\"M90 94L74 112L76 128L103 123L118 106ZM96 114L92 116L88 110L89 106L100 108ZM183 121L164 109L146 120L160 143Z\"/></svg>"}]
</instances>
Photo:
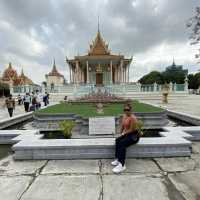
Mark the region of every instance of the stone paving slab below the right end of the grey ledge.
<instances>
[{"instance_id":1,"label":"stone paving slab below the right end of the grey ledge","mask_svg":"<svg viewBox=\"0 0 200 200\"><path fill-rule=\"evenodd\" d=\"M166 172L183 172L195 168L195 161L191 158L156 158L155 160Z\"/></svg>"}]
</instances>

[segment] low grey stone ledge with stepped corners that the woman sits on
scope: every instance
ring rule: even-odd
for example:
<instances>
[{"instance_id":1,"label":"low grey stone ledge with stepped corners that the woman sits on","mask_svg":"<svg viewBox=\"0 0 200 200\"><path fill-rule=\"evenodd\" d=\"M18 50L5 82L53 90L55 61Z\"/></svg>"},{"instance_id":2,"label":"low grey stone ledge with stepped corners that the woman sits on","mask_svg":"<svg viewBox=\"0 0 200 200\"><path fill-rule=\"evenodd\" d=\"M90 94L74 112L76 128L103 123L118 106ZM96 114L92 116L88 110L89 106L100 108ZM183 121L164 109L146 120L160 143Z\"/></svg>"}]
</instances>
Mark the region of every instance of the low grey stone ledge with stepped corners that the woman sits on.
<instances>
[{"instance_id":1,"label":"low grey stone ledge with stepped corners that the woman sits on","mask_svg":"<svg viewBox=\"0 0 200 200\"><path fill-rule=\"evenodd\" d=\"M193 135L176 127L165 127L168 132L160 132L161 137L141 138L139 143L128 148L129 158L190 156ZM198 132L199 131L199 132ZM11 135L15 133L15 135ZM196 127L195 134L200 133ZM6 135L6 131L0 131ZM113 158L115 138L83 138L83 139L42 139L43 135L35 130L8 130L10 143L13 146L15 159L101 159ZM11 139L11 137L13 137ZM1 137L0 137L1 138ZM3 138L3 137L2 137ZM186 139L185 139L186 138ZM5 143L5 142L4 142Z\"/></svg>"}]
</instances>

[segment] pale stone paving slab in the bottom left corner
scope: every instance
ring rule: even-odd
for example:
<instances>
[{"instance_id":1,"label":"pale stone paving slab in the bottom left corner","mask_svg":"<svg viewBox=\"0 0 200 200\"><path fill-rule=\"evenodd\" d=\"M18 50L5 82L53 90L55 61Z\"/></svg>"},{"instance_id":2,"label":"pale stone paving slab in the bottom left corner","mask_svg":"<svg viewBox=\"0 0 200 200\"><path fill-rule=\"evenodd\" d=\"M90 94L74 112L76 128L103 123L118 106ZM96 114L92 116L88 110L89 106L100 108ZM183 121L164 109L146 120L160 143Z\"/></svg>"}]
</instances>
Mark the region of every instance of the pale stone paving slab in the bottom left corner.
<instances>
[{"instance_id":1,"label":"pale stone paving slab in the bottom left corner","mask_svg":"<svg viewBox=\"0 0 200 200\"><path fill-rule=\"evenodd\" d=\"M0 176L0 199L19 200L31 180L29 176Z\"/></svg>"}]
</instances>

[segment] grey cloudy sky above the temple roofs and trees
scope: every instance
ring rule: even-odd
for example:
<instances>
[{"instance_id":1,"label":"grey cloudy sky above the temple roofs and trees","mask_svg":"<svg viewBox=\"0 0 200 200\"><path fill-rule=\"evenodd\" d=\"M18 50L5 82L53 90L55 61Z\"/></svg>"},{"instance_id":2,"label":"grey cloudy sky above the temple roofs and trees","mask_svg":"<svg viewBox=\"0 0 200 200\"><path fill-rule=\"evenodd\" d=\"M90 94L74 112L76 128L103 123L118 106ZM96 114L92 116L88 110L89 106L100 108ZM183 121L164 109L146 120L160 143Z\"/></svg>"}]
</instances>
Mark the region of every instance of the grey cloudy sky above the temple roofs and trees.
<instances>
[{"instance_id":1,"label":"grey cloudy sky above the temple roofs and trees","mask_svg":"<svg viewBox=\"0 0 200 200\"><path fill-rule=\"evenodd\" d=\"M0 72L12 62L36 83L57 68L69 79L65 57L87 53L97 32L112 53L133 55L130 79L172 63L200 69L188 41L188 19L200 0L0 0Z\"/></svg>"}]
</instances>

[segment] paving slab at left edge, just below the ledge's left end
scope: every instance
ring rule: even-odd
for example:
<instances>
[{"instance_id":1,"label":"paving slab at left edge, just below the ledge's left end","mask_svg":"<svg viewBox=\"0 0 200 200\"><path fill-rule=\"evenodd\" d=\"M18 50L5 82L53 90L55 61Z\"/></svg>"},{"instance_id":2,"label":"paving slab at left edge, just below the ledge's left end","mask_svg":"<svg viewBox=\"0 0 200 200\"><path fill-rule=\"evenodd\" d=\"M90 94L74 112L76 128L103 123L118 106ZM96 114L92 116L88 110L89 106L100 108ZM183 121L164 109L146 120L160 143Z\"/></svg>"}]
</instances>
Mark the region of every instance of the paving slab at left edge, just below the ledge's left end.
<instances>
[{"instance_id":1,"label":"paving slab at left edge, just below the ledge's left end","mask_svg":"<svg viewBox=\"0 0 200 200\"><path fill-rule=\"evenodd\" d=\"M36 173L46 163L43 161L15 161L12 156L0 160L1 175L30 175Z\"/></svg>"}]
</instances>

